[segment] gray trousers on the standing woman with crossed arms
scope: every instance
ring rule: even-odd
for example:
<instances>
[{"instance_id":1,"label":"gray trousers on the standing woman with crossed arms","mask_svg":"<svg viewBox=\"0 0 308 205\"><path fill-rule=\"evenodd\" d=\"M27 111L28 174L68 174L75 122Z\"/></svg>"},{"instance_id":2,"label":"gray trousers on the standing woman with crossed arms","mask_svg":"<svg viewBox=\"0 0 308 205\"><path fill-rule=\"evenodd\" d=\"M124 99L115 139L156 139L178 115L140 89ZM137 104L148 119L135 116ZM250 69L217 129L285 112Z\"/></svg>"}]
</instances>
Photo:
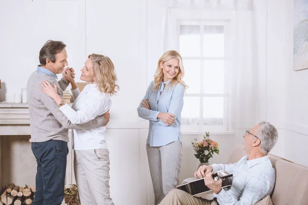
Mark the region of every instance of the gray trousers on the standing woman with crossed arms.
<instances>
[{"instance_id":1,"label":"gray trousers on the standing woman with crossed arms","mask_svg":"<svg viewBox=\"0 0 308 205\"><path fill-rule=\"evenodd\" d=\"M153 182L155 204L158 204L179 183L182 143L174 141L161 147L146 145L146 151Z\"/></svg>"}]
</instances>

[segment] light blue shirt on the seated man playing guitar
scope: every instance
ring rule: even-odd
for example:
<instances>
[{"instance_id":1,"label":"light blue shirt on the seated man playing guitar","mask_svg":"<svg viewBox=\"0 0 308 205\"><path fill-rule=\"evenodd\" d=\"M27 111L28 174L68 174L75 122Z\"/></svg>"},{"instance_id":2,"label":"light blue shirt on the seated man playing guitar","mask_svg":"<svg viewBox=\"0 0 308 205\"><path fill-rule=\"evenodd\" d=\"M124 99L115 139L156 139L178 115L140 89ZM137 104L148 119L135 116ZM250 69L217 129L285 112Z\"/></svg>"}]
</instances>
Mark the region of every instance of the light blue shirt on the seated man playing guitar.
<instances>
[{"instance_id":1,"label":"light blue shirt on the seated man playing guitar","mask_svg":"<svg viewBox=\"0 0 308 205\"><path fill-rule=\"evenodd\" d=\"M221 205L255 204L272 193L275 185L275 170L268 155L248 160L244 156L237 163L229 165L211 165L213 172L226 170L233 174L229 190L214 194Z\"/></svg>"}]
</instances>

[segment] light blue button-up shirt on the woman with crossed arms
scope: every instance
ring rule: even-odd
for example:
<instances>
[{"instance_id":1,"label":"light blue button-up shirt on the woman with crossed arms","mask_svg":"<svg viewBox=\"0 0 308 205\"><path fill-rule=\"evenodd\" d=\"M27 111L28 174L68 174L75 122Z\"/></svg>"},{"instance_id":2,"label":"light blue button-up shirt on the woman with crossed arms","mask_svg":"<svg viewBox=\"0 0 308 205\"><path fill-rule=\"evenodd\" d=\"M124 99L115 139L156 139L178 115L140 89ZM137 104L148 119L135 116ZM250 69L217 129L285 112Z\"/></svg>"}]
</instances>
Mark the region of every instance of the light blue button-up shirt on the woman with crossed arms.
<instances>
[{"instance_id":1,"label":"light blue button-up shirt on the woman with crossed arms","mask_svg":"<svg viewBox=\"0 0 308 205\"><path fill-rule=\"evenodd\" d=\"M170 80L162 82L159 89L152 90L154 81L151 81L143 98L149 100L150 110L141 107L141 104L137 108L138 115L149 120L149 133L146 143L151 147L164 146L172 141L182 141L180 126L184 105L184 87L179 83L175 86L171 86L169 83ZM161 119L158 119L157 116L160 112L174 114L174 124L168 126Z\"/></svg>"}]
</instances>

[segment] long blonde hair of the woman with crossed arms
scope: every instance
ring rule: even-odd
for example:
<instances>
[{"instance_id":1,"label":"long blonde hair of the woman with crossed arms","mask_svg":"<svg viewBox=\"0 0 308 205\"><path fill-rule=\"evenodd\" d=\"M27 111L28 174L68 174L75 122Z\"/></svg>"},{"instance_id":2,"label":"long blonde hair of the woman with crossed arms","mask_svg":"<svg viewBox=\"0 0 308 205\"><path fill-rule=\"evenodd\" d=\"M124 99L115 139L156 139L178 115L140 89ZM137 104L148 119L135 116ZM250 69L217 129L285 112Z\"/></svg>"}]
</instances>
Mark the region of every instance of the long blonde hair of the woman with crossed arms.
<instances>
[{"instance_id":1,"label":"long blonde hair of the woman with crossed arms","mask_svg":"<svg viewBox=\"0 0 308 205\"><path fill-rule=\"evenodd\" d=\"M188 88L188 86L183 81L184 66L183 66L182 57L178 51L169 50L165 52L158 60L158 65L156 69L156 74L154 75L154 85L152 87L152 90L157 90L160 86L160 83L163 81L164 74L163 74L163 69L160 67L160 63L164 64L166 61L168 61L171 58L176 58L179 60L180 70L177 76L171 79L168 86L175 86L178 83L180 83L182 84L182 86L184 86L184 90Z\"/></svg>"}]
</instances>

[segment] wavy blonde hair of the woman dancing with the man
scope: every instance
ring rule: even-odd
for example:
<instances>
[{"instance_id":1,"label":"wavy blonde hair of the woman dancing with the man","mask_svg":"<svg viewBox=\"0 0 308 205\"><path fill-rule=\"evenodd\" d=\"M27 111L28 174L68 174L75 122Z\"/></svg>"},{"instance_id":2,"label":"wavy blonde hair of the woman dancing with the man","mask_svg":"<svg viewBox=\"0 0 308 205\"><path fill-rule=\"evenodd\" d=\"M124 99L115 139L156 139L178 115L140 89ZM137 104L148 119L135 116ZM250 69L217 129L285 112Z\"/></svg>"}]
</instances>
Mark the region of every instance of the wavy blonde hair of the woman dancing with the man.
<instances>
[{"instance_id":1,"label":"wavy blonde hair of the woman dancing with the man","mask_svg":"<svg viewBox=\"0 0 308 205\"><path fill-rule=\"evenodd\" d=\"M116 94L119 91L119 86L115 84L117 75L115 75L114 65L110 58L94 53L88 58L91 58L99 90L110 95Z\"/></svg>"}]
</instances>

